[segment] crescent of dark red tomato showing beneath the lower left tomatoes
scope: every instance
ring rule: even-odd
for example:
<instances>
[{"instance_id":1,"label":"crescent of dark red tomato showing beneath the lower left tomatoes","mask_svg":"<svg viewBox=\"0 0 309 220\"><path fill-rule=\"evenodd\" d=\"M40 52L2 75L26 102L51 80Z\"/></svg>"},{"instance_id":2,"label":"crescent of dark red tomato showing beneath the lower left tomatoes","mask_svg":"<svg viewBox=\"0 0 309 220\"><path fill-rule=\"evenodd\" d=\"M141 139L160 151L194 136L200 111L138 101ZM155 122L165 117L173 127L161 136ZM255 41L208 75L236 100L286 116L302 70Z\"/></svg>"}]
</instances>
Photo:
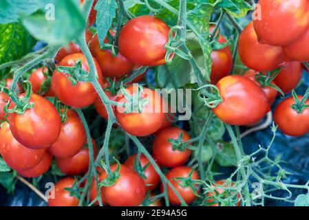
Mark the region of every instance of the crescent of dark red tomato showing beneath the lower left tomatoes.
<instances>
[{"instance_id":1,"label":"crescent of dark red tomato showing beneath the lower left tomatoes","mask_svg":"<svg viewBox=\"0 0 309 220\"><path fill-rule=\"evenodd\" d=\"M23 177L34 178L46 173L50 166L52 166L52 155L45 151L43 159L38 165L34 166L34 168L31 168L30 170L17 170L17 172Z\"/></svg>"}]
</instances>

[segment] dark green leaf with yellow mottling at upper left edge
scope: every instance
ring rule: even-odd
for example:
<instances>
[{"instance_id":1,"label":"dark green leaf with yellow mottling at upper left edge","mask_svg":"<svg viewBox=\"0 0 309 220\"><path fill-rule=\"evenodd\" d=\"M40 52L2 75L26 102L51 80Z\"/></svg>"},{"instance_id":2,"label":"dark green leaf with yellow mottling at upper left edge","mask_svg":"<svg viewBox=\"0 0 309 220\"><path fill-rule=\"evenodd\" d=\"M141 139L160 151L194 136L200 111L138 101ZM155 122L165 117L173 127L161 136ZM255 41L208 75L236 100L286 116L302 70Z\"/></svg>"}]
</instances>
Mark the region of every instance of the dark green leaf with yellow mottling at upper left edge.
<instances>
[{"instance_id":1,"label":"dark green leaf with yellow mottling at upper left edge","mask_svg":"<svg viewBox=\"0 0 309 220\"><path fill-rule=\"evenodd\" d=\"M0 25L0 64L15 61L28 54L36 40L21 23Z\"/></svg>"}]
</instances>

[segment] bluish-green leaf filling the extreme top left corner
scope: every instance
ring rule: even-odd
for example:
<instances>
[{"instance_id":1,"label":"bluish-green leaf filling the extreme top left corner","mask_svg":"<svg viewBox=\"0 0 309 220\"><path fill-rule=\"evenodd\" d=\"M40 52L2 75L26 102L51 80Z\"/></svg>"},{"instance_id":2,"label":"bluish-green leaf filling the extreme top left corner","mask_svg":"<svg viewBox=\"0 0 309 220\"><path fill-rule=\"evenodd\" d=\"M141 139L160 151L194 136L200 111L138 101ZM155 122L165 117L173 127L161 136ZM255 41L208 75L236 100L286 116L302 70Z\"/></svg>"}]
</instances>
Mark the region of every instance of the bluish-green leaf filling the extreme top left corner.
<instances>
[{"instance_id":1,"label":"bluish-green leaf filling the extreme top left corner","mask_svg":"<svg viewBox=\"0 0 309 220\"><path fill-rule=\"evenodd\" d=\"M28 16L43 7L40 0L1 0L0 23L19 21L20 17Z\"/></svg>"}]
</instances>

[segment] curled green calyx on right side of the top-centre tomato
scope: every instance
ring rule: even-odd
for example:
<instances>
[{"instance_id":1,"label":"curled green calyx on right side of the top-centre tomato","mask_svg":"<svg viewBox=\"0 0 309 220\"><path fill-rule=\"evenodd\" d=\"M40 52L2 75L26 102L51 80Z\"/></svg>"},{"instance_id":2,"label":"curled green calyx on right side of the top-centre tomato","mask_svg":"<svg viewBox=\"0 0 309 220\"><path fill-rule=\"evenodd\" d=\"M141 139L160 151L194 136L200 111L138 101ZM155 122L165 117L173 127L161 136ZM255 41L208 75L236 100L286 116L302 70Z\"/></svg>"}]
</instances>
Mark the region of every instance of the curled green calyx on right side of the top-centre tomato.
<instances>
[{"instance_id":1,"label":"curled green calyx on right side of the top-centre tomato","mask_svg":"<svg viewBox=\"0 0 309 220\"><path fill-rule=\"evenodd\" d=\"M192 58L192 54L190 52L183 52L180 47L184 45L186 42L186 38L182 32L185 31L184 27L180 25L175 25L169 31L168 41L164 48L167 50L167 54L165 54L165 62L171 63L175 54L180 56L185 60L190 60Z\"/></svg>"}]
</instances>

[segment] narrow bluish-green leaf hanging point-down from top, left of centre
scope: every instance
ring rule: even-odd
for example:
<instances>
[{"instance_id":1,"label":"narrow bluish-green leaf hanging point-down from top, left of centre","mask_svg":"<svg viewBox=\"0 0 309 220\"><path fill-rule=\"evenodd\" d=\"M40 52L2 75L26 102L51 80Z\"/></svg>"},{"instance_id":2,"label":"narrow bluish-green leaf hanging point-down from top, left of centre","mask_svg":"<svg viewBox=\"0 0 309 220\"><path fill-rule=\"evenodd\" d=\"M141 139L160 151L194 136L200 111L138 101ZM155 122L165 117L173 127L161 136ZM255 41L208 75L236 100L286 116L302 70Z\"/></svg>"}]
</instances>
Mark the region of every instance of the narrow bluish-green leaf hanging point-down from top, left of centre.
<instances>
[{"instance_id":1,"label":"narrow bluish-green leaf hanging point-down from top, left of centre","mask_svg":"<svg viewBox=\"0 0 309 220\"><path fill-rule=\"evenodd\" d=\"M98 39L105 39L113 19L116 17L116 1L115 0L100 0L94 8L96 14L96 26L98 30ZM99 41L103 47L103 41Z\"/></svg>"}]
</instances>

